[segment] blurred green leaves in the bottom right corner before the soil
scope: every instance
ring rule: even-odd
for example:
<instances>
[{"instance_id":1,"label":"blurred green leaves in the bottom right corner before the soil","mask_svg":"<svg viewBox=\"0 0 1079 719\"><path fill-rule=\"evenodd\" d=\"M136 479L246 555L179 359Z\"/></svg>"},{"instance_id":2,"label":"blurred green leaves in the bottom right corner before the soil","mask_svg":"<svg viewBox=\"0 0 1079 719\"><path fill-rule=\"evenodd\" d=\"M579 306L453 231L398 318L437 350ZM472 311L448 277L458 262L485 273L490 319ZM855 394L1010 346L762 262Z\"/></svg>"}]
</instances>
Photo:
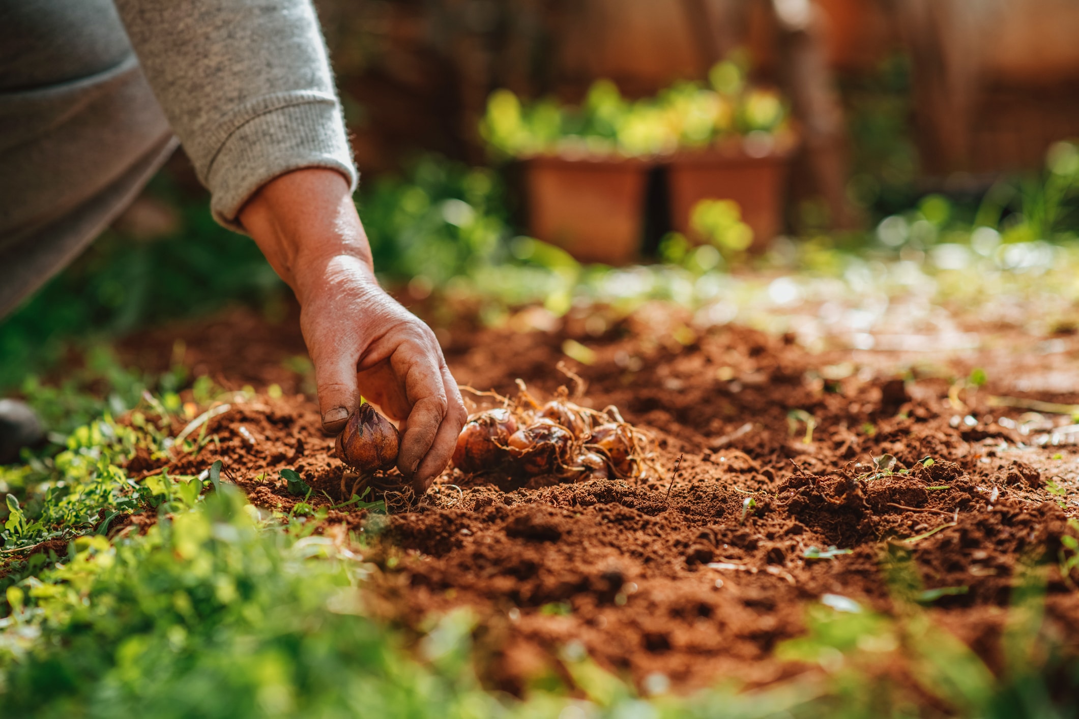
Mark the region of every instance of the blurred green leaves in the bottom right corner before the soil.
<instances>
[{"instance_id":1,"label":"blurred green leaves in the bottom right corner before the soil","mask_svg":"<svg viewBox=\"0 0 1079 719\"><path fill-rule=\"evenodd\" d=\"M918 606L962 594L966 587L923 590L910 553L894 549L884 555L882 569L891 591L891 613L825 594L806 611L807 633L776 648L777 658L819 664L830 675L831 695L808 716L924 716L926 695L948 707L947 716L1075 716L1065 688L1079 686L1079 670L1074 660L1063 661L1052 634L1042 632L1044 565L1024 563L1016 571L1000 638L1005 670L997 676ZM885 666L891 672L902 667L914 687L888 682L876 670ZM818 715L824 707L831 714Z\"/></svg>"}]
</instances>

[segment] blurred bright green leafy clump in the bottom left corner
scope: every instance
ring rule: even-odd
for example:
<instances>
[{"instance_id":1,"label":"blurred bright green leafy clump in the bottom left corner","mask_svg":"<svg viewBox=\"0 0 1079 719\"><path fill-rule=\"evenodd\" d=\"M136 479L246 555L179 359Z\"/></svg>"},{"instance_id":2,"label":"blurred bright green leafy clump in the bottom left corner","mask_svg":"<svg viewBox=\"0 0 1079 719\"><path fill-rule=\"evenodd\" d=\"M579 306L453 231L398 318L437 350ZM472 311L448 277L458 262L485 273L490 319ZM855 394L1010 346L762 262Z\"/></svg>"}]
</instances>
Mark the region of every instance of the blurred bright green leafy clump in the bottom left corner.
<instances>
[{"instance_id":1,"label":"blurred bright green leafy clump in the bottom left corner","mask_svg":"<svg viewBox=\"0 0 1079 719\"><path fill-rule=\"evenodd\" d=\"M8 716L480 717L500 713L450 614L424 668L358 616L360 557L262 531L226 486L146 537L74 542L0 630Z\"/></svg>"}]
</instances>

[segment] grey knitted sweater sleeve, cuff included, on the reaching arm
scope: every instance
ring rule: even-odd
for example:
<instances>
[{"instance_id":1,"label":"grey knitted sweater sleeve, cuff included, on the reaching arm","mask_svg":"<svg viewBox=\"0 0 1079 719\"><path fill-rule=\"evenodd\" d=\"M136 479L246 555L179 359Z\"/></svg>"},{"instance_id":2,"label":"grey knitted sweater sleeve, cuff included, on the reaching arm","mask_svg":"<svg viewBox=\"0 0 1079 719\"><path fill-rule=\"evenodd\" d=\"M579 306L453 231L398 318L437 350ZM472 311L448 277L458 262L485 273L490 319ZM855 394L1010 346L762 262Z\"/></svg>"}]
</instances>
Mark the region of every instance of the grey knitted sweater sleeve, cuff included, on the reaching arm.
<instances>
[{"instance_id":1,"label":"grey knitted sweater sleeve, cuff included, on the reaching arm","mask_svg":"<svg viewBox=\"0 0 1079 719\"><path fill-rule=\"evenodd\" d=\"M242 230L273 178L357 174L310 0L117 0L146 77L209 188L214 217Z\"/></svg>"}]
</instances>

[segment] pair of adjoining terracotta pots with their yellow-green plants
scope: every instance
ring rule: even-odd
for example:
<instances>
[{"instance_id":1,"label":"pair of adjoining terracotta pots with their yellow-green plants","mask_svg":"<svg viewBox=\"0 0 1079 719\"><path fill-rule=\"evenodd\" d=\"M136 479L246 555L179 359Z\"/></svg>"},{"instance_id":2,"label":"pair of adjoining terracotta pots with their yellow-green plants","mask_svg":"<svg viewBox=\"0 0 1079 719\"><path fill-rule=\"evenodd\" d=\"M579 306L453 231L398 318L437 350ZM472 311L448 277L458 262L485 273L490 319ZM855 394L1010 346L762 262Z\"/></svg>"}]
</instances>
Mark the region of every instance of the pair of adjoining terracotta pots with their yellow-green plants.
<instances>
[{"instance_id":1,"label":"pair of adjoining terracotta pots with their yellow-green plants","mask_svg":"<svg viewBox=\"0 0 1079 719\"><path fill-rule=\"evenodd\" d=\"M673 227L692 227L701 199L741 208L755 244L770 239L793 144L787 110L773 91L746 82L743 66L725 60L709 83L679 82L630 101L597 81L579 106L522 105L491 95L481 134L491 149L524 165L530 232L586 262L625 264L640 253L647 171L668 170Z\"/></svg>"}]
</instances>

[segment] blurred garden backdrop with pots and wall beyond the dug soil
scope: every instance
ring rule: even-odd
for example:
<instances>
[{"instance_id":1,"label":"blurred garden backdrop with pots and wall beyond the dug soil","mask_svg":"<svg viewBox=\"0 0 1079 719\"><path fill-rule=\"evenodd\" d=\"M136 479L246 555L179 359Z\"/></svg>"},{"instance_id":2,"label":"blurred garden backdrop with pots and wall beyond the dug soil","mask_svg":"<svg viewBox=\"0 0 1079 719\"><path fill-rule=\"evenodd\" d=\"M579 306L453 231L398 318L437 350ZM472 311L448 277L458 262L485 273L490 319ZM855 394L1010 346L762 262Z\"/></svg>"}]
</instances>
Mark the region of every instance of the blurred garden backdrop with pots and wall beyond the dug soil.
<instances>
[{"instance_id":1,"label":"blurred garden backdrop with pots and wall beyond the dug soil","mask_svg":"<svg viewBox=\"0 0 1079 719\"><path fill-rule=\"evenodd\" d=\"M316 5L377 268L436 326L540 306L542 329L583 299L699 307L748 276L773 295L786 276L992 291L1070 266L1074 0ZM180 151L0 323L0 390L237 303L295 315Z\"/></svg>"}]
</instances>

